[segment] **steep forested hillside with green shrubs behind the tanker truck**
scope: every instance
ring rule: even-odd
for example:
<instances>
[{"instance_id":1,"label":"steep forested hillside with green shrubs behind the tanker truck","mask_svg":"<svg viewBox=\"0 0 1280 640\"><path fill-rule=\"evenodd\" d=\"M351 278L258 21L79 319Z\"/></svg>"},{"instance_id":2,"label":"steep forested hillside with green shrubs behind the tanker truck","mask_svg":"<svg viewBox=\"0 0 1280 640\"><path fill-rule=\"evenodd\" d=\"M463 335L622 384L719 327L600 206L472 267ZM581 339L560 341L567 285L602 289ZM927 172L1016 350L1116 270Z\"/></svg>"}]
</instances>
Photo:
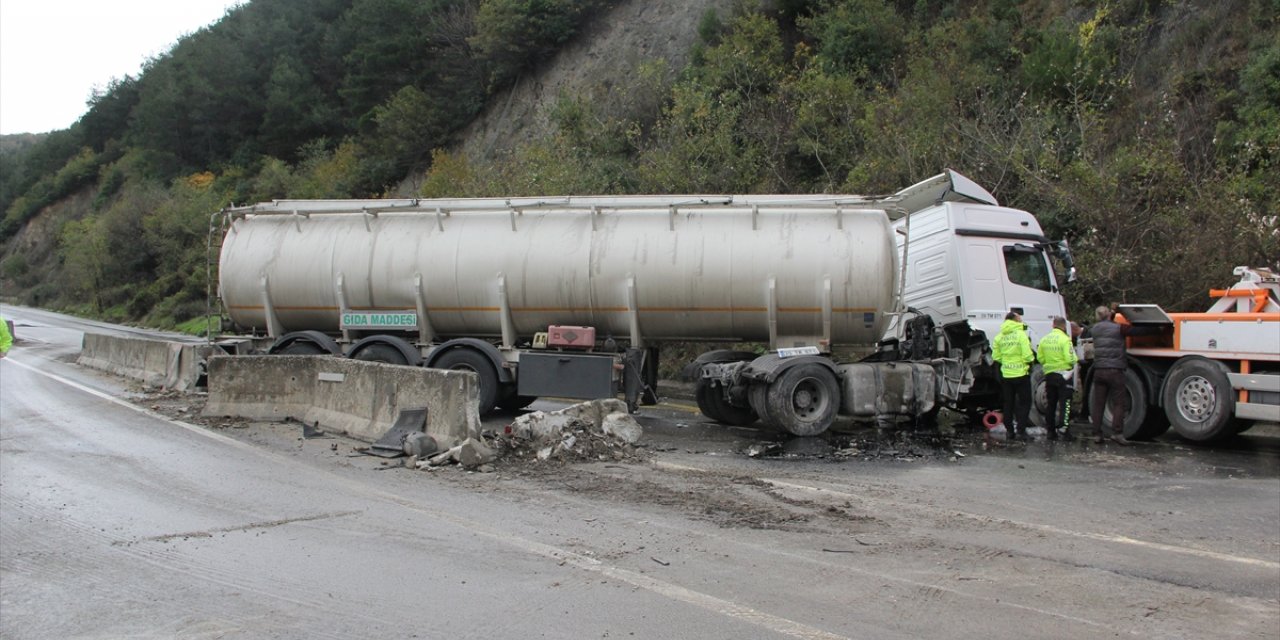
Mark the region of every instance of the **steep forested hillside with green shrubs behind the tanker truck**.
<instances>
[{"instance_id":1,"label":"steep forested hillside with green shrubs behind the tanker truck","mask_svg":"<svg viewBox=\"0 0 1280 640\"><path fill-rule=\"evenodd\" d=\"M1280 1L251 0L0 141L0 296L172 326L279 197L896 191L942 168L1097 302L1280 268Z\"/></svg>"}]
</instances>

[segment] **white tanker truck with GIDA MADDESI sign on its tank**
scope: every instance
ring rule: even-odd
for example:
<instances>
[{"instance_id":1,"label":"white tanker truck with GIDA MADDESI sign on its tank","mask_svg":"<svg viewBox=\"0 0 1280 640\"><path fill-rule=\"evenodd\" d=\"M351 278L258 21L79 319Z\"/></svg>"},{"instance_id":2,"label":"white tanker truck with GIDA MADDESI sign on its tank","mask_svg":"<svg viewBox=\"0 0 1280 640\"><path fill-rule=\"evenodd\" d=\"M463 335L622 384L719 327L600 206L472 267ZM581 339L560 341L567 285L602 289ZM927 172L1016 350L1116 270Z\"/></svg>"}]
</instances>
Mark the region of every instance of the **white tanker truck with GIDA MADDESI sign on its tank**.
<instances>
[{"instance_id":1,"label":"white tanker truck with GIDA MADDESI sign on its tank","mask_svg":"<svg viewBox=\"0 0 1280 640\"><path fill-rule=\"evenodd\" d=\"M216 219L238 344L470 370L481 413L655 403L672 340L767 347L686 369L721 422L812 435L837 413L993 406L1004 314L1033 332L1065 315L1065 243L950 170L888 196L278 200Z\"/></svg>"}]
</instances>

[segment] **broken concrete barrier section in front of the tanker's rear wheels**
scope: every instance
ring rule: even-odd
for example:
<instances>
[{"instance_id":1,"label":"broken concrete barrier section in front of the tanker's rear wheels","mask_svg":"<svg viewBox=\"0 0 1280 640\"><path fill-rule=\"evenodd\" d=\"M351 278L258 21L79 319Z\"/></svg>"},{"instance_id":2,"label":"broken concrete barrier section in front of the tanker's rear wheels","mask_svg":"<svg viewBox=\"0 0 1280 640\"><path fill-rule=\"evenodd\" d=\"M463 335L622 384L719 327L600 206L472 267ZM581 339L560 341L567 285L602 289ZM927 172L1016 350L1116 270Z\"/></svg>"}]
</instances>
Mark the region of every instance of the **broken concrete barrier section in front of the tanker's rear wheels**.
<instances>
[{"instance_id":1,"label":"broken concrete barrier section in front of the tanker's rear wheels","mask_svg":"<svg viewBox=\"0 0 1280 640\"><path fill-rule=\"evenodd\" d=\"M426 407L426 429L451 448L480 429L471 371L424 369L332 356L215 356L205 416L320 422L374 442L402 408Z\"/></svg>"}]
</instances>

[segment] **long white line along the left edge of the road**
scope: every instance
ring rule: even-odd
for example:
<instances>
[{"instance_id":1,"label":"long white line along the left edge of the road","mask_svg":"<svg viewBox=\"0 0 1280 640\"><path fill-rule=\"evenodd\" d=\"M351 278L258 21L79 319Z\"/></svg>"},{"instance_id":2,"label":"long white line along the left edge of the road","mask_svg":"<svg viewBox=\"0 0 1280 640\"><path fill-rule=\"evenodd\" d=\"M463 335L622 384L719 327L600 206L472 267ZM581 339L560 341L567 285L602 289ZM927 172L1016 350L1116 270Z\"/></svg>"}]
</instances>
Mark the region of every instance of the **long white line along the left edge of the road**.
<instances>
[{"instance_id":1,"label":"long white line along the left edge of the road","mask_svg":"<svg viewBox=\"0 0 1280 640\"><path fill-rule=\"evenodd\" d=\"M846 636L841 636L841 635L837 635L837 634L831 634L828 631L823 631L820 628L812 627L812 626L805 625L803 622L796 622L794 620L783 618L783 617L780 617L780 616L773 616L771 613L765 613L765 612L762 612L762 611L758 611L758 609L753 609L751 607L737 604L735 602L726 600L726 599L722 599L722 598L717 598L714 595L709 595L709 594L705 594L705 593L701 593L701 591L695 591L692 589L687 589L687 588L684 588L684 586L680 586L680 585L676 585L676 584L672 584L672 582L658 580L658 579L654 579L654 577L646 576L644 573L639 573L636 571L626 570L626 568L612 566L612 564L605 564L605 563L603 563L603 562L600 562L600 561L598 561L595 558L590 558L588 556L573 553L573 552L567 550L567 549L561 549L558 547L553 547L553 545L549 545L549 544L543 544L543 543L539 543L539 541L535 541L535 540L530 540L530 539L526 539L526 538L520 538L520 536L516 536L516 535L504 534L504 532L500 532L500 531L494 531L494 530L490 530L489 527L481 525L480 522L476 522L476 521L472 521L472 520L467 520L467 518L463 518L461 516L454 516L454 515L451 515L451 513L442 513L438 509L431 509L431 508L420 506L420 504L417 504L415 502L411 502L411 500L408 500L406 498L402 498L399 495L396 495L396 494L384 492L381 489L376 489L376 488L365 485L362 483L352 481L349 479L338 476L337 474L332 474L329 471L321 470L321 468L306 466L306 465L303 465L303 463L301 463L298 461L294 461L292 458L285 458L283 456L279 456L279 454L275 454L275 453L271 453L271 452L268 452L268 451L262 451L262 449L260 449L257 447L253 447L251 444L242 443L239 440L236 440L234 438L229 438L227 435L221 435L221 434L210 431L210 430L204 429L201 426L192 425L192 424L188 424L188 422L182 422L182 421L178 421L178 420L172 420L172 419L169 419L166 416L156 413L155 411L150 411L147 408L140 407L137 404L133 404L131 402L123 401L123 399L116 398L114 396L110 396L108 393L102 393L102 392L100 392L97 389L92 389L90 387L84 387L83 384L79 384L79 383L77 383L74 380L69 380L69 379L63 378L60 375L50 374L47 371L41 371L41 370L38 370L38 369L36 369L36 367L33 367L31 365L26 365L26 364L18 362L18 361L13 361L10 358L5 358L5 360L9 360L14 365L18 365L18 366L20 366L23 369L27 369L29 371L33 371L33 372L40 374L42 376L46 376L46 378L49 378L51 380L56 380L56 381L63 383L63 384L65 384L68 387L72 387L74 389L78 389L78 390L82 390L84 393L88 393L91 396L95 396L97 398L101 398L101 399L105 399L105 401L111 402L114 404L119 404L122 407L137 411L138 413L142 413L142 415L145 415L147 417L152 417L152 419L156 419L156 420L163 420L165 422L169 422L172 425L179 426L179 428L186 429L188 431L192 431L195 434L210 438L212 440L218 440L220 443L232 444L232 445L234 445L234 447L237 447L239 449L252 451L256 454L260 454L262 457L270 458L273 462L285 462L285 463L289 463L289 465L294 465L294 466L300 466L300 467L307 468L307 470L310 470L312 472L320 472L320 474L329 475L330 477L340 481L342 484L346 484L346 485L348 485L348 486L351 486L351 488L353 488L353 489L356 489L360 493L364 493L366 495L372 495L372 497L376 497L379 499L383 499L383 500L398 504L401 507L411 508L411 509L421 512L421 513L424 513L424 515L426 515L429 517L433 517L433 518L436 518L436 520L442 520L442 521L447 521L447 522L449 522L449 524L452 524L454 526L466 529L467 531L471 531L474 534L484 535L484 536L490 538L493 540L500 541L500 543L507 544L509 547L515 547L515 548L522 549L525 552L529 552L529 553L532 553L532 554L536 554L536 556L543 556L545 558L556 559L556 561L558 561L561 563L572 564L573 567L580 568L580 570L585 570L585 571L591 571L591 572L595 572L595 573L600 573L603 576L607 576L607 577L611 577L611 579L614 579L614 580L630 584L632 586L636 586L639 589L644 589L646 591L662 595L664 598L668 598L668 599L672 599L672 600L677 600L677 602L682 602L685 604L691 604L691 605L699 607L701 609L709 611L712 613L717 613L719 616L724 616L724 617L733 618L733 620L737 620L737 621L741 621L741 622L746 622L746 623L750 623L750 625L764 627L764 628L767 628L769 631L774 631L774 632L785 635L785 636L799 637L799 639L803 639L803 640L849 640Z\"/></svg>"}]
</instances>

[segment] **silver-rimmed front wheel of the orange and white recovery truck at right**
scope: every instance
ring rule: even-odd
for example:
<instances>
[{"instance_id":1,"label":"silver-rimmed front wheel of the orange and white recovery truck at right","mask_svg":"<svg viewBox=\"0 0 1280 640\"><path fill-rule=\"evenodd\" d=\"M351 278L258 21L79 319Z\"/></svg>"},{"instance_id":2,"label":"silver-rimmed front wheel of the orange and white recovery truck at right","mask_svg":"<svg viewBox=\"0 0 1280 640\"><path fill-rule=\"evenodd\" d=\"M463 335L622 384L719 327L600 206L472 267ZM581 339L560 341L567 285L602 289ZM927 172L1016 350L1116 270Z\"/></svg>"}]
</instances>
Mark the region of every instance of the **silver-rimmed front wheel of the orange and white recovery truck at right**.
<instances>
[{"instance_id":1,"label":"silver-rimmed front wheel of the orange and white recovery truck at right","mask_svg":"<svg viewBox=\"0 0 1280 640\"><path fill-rule=\"evenodd\" d=\"M1169 370L1161 399L1178 435L1212 442L1235 434L1235 396L1226 374L1222 364L1194 356Z\"/></svg>"}]
</instances>

